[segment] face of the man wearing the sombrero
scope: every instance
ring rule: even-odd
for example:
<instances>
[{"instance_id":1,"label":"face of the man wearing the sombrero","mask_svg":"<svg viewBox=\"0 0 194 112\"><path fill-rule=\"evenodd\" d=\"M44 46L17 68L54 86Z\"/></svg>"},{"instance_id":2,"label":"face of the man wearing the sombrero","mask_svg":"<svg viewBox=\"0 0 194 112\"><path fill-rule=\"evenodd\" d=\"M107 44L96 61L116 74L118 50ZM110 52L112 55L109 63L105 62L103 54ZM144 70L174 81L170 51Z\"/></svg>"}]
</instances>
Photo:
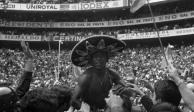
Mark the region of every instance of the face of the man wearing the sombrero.
<instances>
[{"instance_id":1,"label":"face of the man wearing the sombrero","mask_svg":"<svg viewBox=\"0 0 194 112\"><path fill-rule=\"evenodd\" d=\"M105 53L98 52L92 57L92 65L95 68L104 68L106 66L107 56Z\"/></svg>"}]
</instances>

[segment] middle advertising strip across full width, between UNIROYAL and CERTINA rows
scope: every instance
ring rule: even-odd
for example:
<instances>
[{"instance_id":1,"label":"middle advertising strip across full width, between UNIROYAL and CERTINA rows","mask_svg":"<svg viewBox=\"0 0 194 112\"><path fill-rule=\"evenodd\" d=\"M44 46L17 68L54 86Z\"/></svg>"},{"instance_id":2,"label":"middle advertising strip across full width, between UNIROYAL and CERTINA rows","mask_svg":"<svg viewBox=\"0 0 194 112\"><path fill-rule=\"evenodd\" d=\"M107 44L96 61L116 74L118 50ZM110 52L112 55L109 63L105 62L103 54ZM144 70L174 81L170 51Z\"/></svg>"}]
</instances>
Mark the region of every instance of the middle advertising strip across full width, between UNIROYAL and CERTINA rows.
<instances>
[{"instance_id":1,"label":"middle advertising strip across full width, between UNIROYAL and CERTINA rows","mask_svg":"<svg viewBox=\"0 0 194 112\"><path fill-rule=\"evenodd\" d=\"M166 22L187 18L194 18L194 11L156 16L155 21ZM25 27L25 28L97 28L97 27L130 26L148 23L153 23L152 17L117 21L99 21L99 22L6 22L0 20L0 26L2 27Z\"/></svg>"}]
</instances>

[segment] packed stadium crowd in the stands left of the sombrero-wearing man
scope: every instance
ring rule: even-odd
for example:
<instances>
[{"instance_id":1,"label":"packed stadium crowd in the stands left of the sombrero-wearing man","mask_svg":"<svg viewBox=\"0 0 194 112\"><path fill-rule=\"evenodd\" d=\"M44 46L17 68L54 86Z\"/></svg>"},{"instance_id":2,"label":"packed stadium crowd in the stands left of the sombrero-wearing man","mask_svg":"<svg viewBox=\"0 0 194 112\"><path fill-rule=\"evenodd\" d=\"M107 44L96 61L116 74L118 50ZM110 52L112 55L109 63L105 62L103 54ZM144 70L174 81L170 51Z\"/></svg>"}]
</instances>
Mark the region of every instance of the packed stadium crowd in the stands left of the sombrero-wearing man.
<instances>
[{"instance_id":1,"label":"packed stadium crowd in the stands left of the sombrero-wearing man","mask_svg":"<svg viewBox=\"0 0 194 112\"><path fill-rule=\"evenodd\" d=\"M50 87L51 84L54 83L55 75L58 71L58 52L54 50L51 52L46 50L34 50L32 52L34 52L34 55L37 59L35 60L36 66L34 70L36 72L34 75L35 77L34 83L32 83L32 88ZM61 54L62 59L60 64L63 66L61 71L67 73L65 73L65 76L70 76L68 73L70 72L70 61L68 57L69 51L61 51ZM1 82L17 83L15 82L17 80L14 79L19 78L16 73L22 74L21 69L24 66L23 59L24 54L19 50L1 49ZM68 84L71 85L71 82L68 81Z\"/></svg>"}]
</instances>

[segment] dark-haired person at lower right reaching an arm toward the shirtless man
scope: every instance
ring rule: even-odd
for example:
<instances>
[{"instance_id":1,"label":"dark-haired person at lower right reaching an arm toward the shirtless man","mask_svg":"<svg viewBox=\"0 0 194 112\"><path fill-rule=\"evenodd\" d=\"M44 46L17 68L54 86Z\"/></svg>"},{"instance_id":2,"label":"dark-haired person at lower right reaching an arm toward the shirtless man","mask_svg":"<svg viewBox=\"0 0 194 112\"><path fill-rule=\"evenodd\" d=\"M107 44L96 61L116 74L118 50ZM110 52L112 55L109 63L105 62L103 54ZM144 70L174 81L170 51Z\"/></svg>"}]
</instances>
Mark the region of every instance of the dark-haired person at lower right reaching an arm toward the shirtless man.
<instances>
[{"instance_id":1,"label":"dark-haired person at lower right reaching an arm toward the shirtless man","mask_svg":"<svg viewBox=\"0 0 194 112\"><path fill-rule=\"evenodd\" d=\"M136 85L131 85L133 87L130 88L130 90L142 96L141 103L148 112L155 108L156 105L154 104L167 102L174 106L177 106L177 108L180 104L181 94L176 84L171 80L160 80L156 82L156 84L154 85L155 92L153 101L149 98L149 96L146 96Z\"/></svg>"}]
</instances>

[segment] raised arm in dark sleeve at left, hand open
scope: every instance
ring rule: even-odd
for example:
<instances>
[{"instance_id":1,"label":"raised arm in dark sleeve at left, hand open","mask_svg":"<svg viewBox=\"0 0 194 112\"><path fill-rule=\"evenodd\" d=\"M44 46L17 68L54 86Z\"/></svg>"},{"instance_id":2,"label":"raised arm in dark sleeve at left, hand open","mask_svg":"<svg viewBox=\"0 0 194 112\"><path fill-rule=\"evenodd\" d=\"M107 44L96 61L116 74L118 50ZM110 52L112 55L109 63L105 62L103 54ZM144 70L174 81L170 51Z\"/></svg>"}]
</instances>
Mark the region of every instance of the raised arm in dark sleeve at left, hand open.
<instances>
[{"instance_id":1,"label":"raised arm in dark sleeve at left, hand open","mask_svg":"<svg viewBox=\"0 0 194 112\"><path fill-rule=\"evenodd\" d=\"M25 54L24 73L19 80L18 87L16 88L16 94L21 98L30 88L33 71L33 53L31 52L29 45L24 41L21 42L23 52Z\"/></svg>"}]
</instances>

